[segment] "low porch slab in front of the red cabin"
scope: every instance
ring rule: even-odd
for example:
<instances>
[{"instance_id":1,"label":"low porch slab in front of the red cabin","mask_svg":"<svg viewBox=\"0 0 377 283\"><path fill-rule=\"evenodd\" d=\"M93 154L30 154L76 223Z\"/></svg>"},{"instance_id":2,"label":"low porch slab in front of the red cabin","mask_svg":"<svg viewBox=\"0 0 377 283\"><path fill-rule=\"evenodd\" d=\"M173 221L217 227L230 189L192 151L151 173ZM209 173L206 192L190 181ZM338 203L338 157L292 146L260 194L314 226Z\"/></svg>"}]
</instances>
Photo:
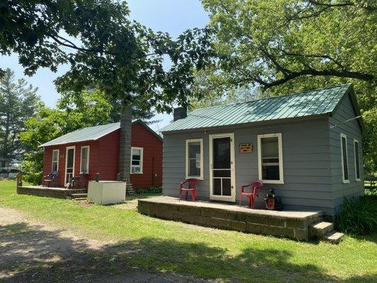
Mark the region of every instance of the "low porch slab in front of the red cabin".
<instances>
[{"instance_id":1,"label":"low porch slab in front of the red cabin","mask_svg":"<svg viewBox=\"0 0 377 283\"><path fill-rule=\"evenodd\" d=\"M70 198L71 194L85 193L88 190L71 190L65 187L42 187L35 185L18 186L17 193L19 195L36 195L38 197L54 197L58 199Z\"/></svg>"}]
</instances>

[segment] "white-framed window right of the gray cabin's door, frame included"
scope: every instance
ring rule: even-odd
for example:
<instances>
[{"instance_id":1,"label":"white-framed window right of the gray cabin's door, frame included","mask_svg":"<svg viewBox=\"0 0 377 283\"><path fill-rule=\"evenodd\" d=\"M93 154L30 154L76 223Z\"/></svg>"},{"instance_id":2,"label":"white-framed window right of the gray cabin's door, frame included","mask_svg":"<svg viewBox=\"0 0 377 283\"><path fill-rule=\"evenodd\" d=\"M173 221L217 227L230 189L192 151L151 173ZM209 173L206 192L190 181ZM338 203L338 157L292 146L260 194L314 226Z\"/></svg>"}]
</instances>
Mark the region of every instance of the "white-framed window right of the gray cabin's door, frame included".
<instances>
[{"instance_id":1,"label":"white-framed window right of the gray cabin's door, frame included","mask_svg":"<svg viewBox=\"0 0 377 283\"><path fill-rule=\"evenodd\" d=\"M258 134L258 171L264 183L284 183L282 134Z\"/></svg>"}]
</instances>

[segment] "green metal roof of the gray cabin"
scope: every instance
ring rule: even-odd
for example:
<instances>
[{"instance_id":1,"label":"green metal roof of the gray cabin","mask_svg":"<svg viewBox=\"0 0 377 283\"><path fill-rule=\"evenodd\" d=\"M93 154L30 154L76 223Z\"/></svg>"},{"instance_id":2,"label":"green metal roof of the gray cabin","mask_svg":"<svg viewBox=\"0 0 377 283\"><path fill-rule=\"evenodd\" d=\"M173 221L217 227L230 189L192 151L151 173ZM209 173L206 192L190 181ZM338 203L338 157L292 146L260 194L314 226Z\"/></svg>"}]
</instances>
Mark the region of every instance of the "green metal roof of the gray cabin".
<instances>
[{"instance_id":1,"label":"green metal roof of the gray cabin","mask_svg":"<svg viewBox=\"0 0 377 283\"><path fill-rule=\"evenodd\" d=\"M201 108L163 127L161 132L325 114L335 109L349 88L352 84L347 83L286 96Z\"/></svg>"}]
</instances>

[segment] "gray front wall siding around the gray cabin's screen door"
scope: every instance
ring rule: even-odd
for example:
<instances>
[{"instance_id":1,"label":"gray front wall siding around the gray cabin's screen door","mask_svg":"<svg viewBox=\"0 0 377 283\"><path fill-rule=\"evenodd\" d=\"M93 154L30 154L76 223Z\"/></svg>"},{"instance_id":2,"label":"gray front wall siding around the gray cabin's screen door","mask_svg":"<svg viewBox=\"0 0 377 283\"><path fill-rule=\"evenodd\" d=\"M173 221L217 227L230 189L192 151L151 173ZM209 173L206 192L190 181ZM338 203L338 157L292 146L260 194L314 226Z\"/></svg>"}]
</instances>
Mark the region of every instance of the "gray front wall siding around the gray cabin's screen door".
<instances>
[{"instance_id":1,"label":"gray front wall siding around the gray cabin's screen door","mask_svg":"<svg viewBox=\"0 0 377 283\"><path fill-rule=\"evenodd\" d=\"M209 199L209 134L234 132L236 201L240 187L258 179L257 134L282 133L284 184L266 184L261 190L263 201L273 187L287 209L323 210L332 215L330 137L328 117L294 122L274 122L248 127L232 127L207 132L164 134L163 194L177 197L179 183L185 179L185 140L203 139L204 180L199 181L198 197ZM253 153L240 154L238 144L253 143Z\"/></svg>"}]
</instances>

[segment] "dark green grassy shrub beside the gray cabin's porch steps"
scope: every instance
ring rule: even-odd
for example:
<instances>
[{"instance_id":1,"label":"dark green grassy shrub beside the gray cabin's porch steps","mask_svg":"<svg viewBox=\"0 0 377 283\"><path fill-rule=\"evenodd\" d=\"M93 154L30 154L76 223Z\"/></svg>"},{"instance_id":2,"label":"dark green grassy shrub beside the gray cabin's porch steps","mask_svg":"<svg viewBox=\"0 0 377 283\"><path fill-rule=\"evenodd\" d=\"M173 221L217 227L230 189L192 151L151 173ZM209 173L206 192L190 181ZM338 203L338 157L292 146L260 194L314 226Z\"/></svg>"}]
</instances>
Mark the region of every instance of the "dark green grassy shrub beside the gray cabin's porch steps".
<instances>
[{"instance_id":1,"label":"dark green grassy shrub beside the gray cabin's porch steps","mask_svg":"<svg viewBox=\"0 0 377 283\"><path fill-rule=\"evenodd\" d=\"M344 199L342 212L335 219L337 230L352 236L376 231L377 197L365 195L359 199Z\"/></svg>"}]
</instances>

